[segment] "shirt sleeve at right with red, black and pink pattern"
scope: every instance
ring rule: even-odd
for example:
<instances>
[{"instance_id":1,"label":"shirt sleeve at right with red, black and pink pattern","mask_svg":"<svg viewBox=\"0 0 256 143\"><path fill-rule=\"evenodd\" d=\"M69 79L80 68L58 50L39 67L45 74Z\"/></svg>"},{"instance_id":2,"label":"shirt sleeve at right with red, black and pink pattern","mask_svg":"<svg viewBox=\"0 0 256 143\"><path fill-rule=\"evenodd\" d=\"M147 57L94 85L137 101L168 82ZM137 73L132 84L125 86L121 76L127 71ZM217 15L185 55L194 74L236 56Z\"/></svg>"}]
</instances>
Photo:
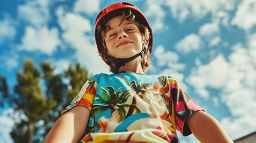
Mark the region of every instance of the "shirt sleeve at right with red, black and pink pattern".
<instances>
[{"instance_id":1,"label":"shirt sleeve at right with red, black and pink pattern","mask_svg":"<svg viewBox=\"0 0 256 143\"><path fill-rule=\"evenodd\" d=\"M168 79L171 95L173 98L173 104L175 109L175 124L176 128L182 135L188 136L192 132L186 123L186 120L196 111L203 110L195 101L193 101L189 95L187 95L178 85L177 80Z\"/></svg>"}]
</instances>

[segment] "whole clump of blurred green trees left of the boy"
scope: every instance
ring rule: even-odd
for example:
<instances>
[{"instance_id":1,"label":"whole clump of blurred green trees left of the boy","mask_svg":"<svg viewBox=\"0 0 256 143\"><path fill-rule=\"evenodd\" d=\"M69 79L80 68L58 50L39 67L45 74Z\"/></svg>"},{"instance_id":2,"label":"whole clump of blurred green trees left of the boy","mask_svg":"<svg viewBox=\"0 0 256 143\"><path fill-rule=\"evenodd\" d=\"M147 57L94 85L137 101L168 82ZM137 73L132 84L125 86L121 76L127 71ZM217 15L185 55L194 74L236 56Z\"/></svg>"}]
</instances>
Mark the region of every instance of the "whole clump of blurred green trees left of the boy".
<instances>
[{"instance_id":1,"label":"whole clump of blurred green trees left of the boy","mask_svg":"<svg viewBox=\"0 0 256 143\"><path fill-rule=\"evenodd\" d=\"M14 95L8 93L5 77L0 77L0 92L13 105L18 116L10 135L14 142L42 142L61 111L78 94L88 79L88 71L76 63L63 73L42 61L39 70L31 60L23 61L17 72ZM2 105L2 104L1 104Z\"/></svg>"}]
</instances>

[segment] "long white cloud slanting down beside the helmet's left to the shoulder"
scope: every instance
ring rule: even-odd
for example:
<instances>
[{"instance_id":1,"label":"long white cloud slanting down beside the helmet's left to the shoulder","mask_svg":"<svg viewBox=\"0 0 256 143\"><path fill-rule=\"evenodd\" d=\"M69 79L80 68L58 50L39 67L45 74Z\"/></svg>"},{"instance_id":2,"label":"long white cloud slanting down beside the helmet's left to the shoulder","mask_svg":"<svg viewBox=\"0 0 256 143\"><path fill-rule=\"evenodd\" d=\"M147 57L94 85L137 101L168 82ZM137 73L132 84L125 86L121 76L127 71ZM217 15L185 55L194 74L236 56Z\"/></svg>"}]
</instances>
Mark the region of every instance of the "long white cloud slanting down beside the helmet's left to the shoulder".
<instances>
[{"instance_id":1,"label":"long white cloud slanting down beside the helmet's left to the shoulder","mask_svg":"<svg viewBox=\"0 0 256 143\"><path fill-rule=\"evenodd\" d=\"M61 7L57 9L56 14L58 24L64 31L64 41L76 49L74 57L84 64L90 73L109 73L109 67L98 56L94 37L87 35L93 30L90 21L78 14L65 13Z\"/></svg>"}]
</instances>

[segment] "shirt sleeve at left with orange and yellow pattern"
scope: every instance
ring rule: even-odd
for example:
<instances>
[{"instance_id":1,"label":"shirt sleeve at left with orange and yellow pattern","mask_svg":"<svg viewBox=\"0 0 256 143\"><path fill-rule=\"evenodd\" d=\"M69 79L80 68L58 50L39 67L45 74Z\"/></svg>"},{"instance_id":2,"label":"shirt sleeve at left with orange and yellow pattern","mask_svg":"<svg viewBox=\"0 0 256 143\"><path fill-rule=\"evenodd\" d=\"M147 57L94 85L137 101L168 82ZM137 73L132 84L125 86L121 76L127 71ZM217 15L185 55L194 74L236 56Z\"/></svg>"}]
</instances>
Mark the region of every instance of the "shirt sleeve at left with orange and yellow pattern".
<instances>
[{"instance_id":1,"label":"shirt sleeve at left with orange and yellow pattern","mask_svg":"<svg viewBox=\"0 0 256 143\"><path fill-rule=\"evenodd\" d=\"M82 106L82 107L88 108L88 110L91 111L96 89L97 89L97 83L95 82L95 80L88 79L87 82L85 82L84 86L82 86L81 91L65 108L62 114L71 110L75 106Z\"/></svg>"}]
</instances>

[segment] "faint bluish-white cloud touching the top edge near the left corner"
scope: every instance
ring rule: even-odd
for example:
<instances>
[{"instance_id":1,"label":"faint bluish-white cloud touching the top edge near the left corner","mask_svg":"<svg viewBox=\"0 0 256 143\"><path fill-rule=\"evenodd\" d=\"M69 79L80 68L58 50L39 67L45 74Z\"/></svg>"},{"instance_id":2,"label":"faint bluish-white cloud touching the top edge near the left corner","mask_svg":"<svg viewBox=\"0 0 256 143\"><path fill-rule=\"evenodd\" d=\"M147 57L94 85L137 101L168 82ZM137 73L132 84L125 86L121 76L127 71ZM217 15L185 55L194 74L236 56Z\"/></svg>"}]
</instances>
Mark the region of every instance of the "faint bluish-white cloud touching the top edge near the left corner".
<instances>
[{"instance_id":1,"label":"faint bluish-white cloud touching the top edge near the left corner","mask_svg":"<svg viewBox=\"0 0 256 143\"><path fill-rule=\"evenodd\" d=\"M18 6L18 17L32 26L45 26L50 20L50 11L46 1L27 1L26 4Z\"/></svg>"}]
</instances>

